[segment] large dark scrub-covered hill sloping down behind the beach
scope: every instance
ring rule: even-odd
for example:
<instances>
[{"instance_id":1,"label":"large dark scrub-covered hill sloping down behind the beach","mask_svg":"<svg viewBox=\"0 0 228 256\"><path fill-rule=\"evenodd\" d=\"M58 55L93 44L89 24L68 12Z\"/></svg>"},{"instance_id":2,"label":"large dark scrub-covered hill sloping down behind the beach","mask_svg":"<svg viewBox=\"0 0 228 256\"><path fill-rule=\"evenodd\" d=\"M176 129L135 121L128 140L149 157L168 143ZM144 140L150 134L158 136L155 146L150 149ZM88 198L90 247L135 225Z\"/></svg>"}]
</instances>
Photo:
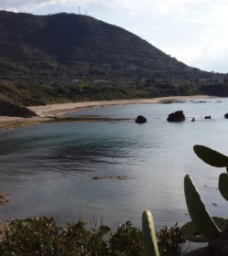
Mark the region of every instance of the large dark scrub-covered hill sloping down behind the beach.
<instances>
[{"instance_id":1,"label":"large dark scrub-covered hill sloping down behind the beach","mask_svg":"<svg viewBox=\"0 0 228 256\"><path fill-rule=\"evenodd\" d=\"M224 75L188 67L125 29L91 16L0 11L2 101L31 105L224 94L224 80Z\"/></svg>"}]
</instances>

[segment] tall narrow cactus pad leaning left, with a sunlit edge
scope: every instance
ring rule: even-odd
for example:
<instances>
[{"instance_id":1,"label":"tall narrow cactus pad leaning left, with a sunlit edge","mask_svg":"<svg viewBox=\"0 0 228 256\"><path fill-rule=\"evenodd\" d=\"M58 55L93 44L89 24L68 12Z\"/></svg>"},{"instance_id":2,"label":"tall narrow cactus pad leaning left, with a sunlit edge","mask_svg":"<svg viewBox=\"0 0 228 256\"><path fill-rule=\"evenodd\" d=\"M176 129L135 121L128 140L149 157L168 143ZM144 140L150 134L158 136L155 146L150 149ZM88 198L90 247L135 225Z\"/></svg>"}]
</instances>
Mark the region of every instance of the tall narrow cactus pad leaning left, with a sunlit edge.
<instances>
[{"instance_id":1,"label":"tall narrow cactus pad leaning left, with a sunlit edge","mask_svg":"<svg viewBox=\"0 0 228 256\"><path fill-rule=\"evenodd\" d=\"M195 226L208 240L216 239L221 231L207 212L202 198L194 186L192 177L188 175L184 177L184 193L186 204Z\"/></svg>"}]
</instances>

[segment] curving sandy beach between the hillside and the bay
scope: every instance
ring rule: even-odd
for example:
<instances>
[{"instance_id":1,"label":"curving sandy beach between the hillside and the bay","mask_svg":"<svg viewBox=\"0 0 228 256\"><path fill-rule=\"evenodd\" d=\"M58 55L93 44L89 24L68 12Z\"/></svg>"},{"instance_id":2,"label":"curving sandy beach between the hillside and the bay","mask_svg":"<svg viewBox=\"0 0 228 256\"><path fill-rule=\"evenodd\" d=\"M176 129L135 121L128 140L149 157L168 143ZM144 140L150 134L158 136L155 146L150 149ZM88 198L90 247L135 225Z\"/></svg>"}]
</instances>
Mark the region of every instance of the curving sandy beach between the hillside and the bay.
<instances>
[{"instance_id":1,"label":"curving sandy beach between the hillside and the bay","mask_svg":"<svg viewBox=\"0 0 228 256\"><path fill-rule=\"evenodd\" d=\"M153 99L137 99L137 100L113 100L113 101L78 101L57 104L47 104L45 106L27 107L37 116L30 118L0 116L0 129L10 129L24 127L27 125L36 125L39 123L47 123L62 118L69 112L79 112L86 109L113 105L129 105L129 104L153 104L167 103L171 101L191 101L193 99L213 99L219 98L208 95L192 95L192 96L170 96L158 97ZM57 120L56 120L57 121ZM86 120L85 120L86 121Z\"/></svg>"}]
</instances>

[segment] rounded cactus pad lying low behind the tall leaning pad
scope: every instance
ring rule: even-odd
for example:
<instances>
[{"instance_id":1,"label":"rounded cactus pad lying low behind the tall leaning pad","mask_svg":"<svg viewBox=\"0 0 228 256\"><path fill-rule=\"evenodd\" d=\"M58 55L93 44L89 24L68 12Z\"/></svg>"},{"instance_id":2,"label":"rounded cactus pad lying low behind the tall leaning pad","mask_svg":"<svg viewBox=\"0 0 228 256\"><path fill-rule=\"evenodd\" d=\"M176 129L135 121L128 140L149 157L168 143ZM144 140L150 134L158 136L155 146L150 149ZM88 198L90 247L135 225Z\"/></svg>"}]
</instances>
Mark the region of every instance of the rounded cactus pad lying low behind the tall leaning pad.
<instances>
[{"instance_id":1,"label":"rounded cactus pad lying low behind the tall leaning pad","mask_svg":"<svg viewBox=\"0 0 228 256\"><path fill-rule=\"evenodd\" d=\"M223 217L212 217L213 221L219 227L219 229L223 230L227 224L227 219ZM193 221L187 222L181 227L181 235L186 239L193 242L207 242L209 241L206 237L204 237L199 229L196 228Z\"/></svg>"}]
</instances>

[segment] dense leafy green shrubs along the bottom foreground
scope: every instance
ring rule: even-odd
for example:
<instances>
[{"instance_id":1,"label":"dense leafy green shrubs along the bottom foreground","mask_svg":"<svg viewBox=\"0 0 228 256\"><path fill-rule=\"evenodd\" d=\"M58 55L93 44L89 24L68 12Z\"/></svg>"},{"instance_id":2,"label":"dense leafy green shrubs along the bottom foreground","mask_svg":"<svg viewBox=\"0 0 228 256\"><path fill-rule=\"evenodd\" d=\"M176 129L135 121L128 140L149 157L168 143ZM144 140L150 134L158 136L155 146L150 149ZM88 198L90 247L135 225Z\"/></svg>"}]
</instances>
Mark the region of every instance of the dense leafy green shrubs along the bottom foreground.
<instances>
[{"instance_id":1,"label":"dense leafy green shrubs along the bottom foreground","mask_svg":"<svg viewBox=\"0 0 228 256\"><path fill-rule=\"evenodd\" d=\"M0 254L4 256L144 256L140 229L130 221L113 231L108 226L91 229L78 221L67 224L65 229L57 226L53 218L28 218L12 220L10 229L0 242ZM185 240L180 229L161 229L157 233L161 256L179 256Z\"/></svg>"}]
</instances>

